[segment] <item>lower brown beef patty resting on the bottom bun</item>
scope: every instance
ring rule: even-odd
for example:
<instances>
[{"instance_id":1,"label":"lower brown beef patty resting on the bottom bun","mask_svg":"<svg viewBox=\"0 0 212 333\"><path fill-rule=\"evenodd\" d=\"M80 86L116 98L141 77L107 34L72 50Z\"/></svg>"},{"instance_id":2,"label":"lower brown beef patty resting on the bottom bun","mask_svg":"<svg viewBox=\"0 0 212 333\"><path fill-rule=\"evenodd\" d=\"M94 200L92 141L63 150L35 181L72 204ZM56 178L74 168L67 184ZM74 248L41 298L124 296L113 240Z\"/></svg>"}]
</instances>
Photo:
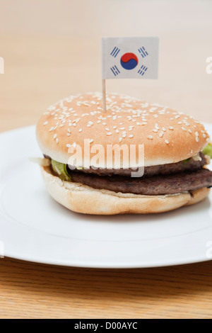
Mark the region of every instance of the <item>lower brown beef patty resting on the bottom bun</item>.
<instances>
[{"instance_id":1,"label":"lower brown beef patty resting on the bottom bun","mask_svg":"<svg viewBox=\"0 0 212 333\"><path fill-rule=\"evenodd\" d=\"M70 174L75 183L97 189L148 196L182 193L212 186L212 171L208 169L144 178L97 176L75 171L71 171Z\"/></svg>"}]
</instances>

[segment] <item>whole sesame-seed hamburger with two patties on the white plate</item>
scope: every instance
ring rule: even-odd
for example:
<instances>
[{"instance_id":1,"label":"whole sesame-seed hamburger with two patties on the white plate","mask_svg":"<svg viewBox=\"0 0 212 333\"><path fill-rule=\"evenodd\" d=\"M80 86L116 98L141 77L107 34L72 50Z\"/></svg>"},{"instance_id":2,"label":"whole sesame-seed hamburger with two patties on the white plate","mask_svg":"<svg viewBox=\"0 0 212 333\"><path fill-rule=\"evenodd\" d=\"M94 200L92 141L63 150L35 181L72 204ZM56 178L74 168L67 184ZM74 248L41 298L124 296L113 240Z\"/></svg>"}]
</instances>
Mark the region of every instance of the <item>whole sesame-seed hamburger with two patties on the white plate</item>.
<instances>
[{"instance_id":1,"label":"whole sesame-seed hamburger with two patties on the white plate","mask_svg":"<svg viewBox=\"0 0 212 333\"><path fill-rule=\"evenodd\" d=\"M100 93L64 98L40 118L37 141L49 194L76 213L163 213L203 201L212 186L207 169L212 146L204 125L129 96L108 94L106 113ZM85 152L95 145L102 148L98 160ZM106 156L107 147L120 145L143 145L143 176L131 176L140 165L122 151L118 164ZM81 147L77 162L76 147Z\"/></svg>"}]
</instances>

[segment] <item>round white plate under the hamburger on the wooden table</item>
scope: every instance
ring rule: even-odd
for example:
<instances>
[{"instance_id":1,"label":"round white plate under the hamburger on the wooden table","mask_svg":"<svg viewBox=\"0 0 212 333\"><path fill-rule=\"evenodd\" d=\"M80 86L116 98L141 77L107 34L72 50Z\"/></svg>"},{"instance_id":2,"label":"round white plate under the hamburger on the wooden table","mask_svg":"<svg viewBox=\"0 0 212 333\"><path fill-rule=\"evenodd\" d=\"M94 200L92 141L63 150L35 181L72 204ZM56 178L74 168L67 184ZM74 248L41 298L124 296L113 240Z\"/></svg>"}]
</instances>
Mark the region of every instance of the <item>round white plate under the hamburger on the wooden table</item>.
<instances>
[{"instance_id":1,"label":"round white plate under the hamburger on the wooden table","mask_svg":"<svg viewBox=\"0 0 212 333\"><path fill-rule=\"evenodd\" d=\"M212 135L212 125L206 125ZM35 127L0 135L0 244L16 259L64 266L131 268L212 258L212 197L158 215L71 213L48 195L36 164Z\"/></svg>"}]
</instances>

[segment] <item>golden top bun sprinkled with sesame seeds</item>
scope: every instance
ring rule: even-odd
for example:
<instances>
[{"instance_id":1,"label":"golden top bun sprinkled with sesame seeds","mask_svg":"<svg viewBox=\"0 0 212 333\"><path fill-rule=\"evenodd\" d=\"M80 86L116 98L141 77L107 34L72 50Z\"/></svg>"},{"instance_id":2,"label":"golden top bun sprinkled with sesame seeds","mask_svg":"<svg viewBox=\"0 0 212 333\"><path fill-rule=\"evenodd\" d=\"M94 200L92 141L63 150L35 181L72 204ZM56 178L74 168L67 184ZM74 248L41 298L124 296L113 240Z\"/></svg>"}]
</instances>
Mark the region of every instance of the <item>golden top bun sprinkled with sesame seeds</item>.
<instances>
[{"instance_id":1,"label":"golden top bun sprinkled with sesame seeds","mask_svg":"<svg viewBox=\"0 0 212 333\"><path fill-rule=\"evenodd\" d=\"M57 162L69 164L69 147L83 149L85 139L90 140L90 147L105 149L107 145L143 144L145 166L154 166L193 157L204 149L209 136L204 125L190 115L120 94L107 95L107 113L102 111L100 93L69 96L49 106L37 124L42 153ZM121 164L124 167L125 161Z\"/></svg>"}]
</instances>

